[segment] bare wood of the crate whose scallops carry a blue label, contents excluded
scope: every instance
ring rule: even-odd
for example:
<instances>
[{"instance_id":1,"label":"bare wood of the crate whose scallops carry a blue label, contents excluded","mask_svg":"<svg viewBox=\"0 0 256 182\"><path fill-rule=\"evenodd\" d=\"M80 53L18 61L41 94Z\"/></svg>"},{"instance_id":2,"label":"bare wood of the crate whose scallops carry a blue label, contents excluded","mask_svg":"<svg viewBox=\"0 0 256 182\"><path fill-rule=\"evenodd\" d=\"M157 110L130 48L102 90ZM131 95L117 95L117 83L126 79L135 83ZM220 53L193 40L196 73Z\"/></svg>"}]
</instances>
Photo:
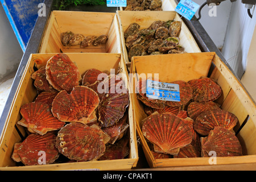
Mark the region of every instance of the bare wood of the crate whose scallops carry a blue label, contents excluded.
<instances>
[{"instance_id":1,"label":"bare wood of the crate whose scallops carry a blue label, contents excluded","mask_svg":"<svg viewBox=\"0 0 256 182\"><path fill-rule=\"evenodd\" d=\"M213 69L210 64L214 65ZM208 76L217 80L221 86L222 94L216 100L221 108L235 114L238 118L237 126L234 127L237 138L240 140L243 155L234 157L217 157L218 164L246 164L256 163L256 105L251 99L240 81L226 67L215 52L184 53L157 56L136 56L131 63L130 90L133 91L132 101L134 118L143 147L144 154L150 167L177 167L177 166L210 166L210 158L171 158L155 159L142 134L141 121L146 118L143 104L136 97L135 73L159 73L159 80L171 82L175 80L188 81L200 76ZM133 81L131 81L133 80Z\"/></svg>"}]
</instances>

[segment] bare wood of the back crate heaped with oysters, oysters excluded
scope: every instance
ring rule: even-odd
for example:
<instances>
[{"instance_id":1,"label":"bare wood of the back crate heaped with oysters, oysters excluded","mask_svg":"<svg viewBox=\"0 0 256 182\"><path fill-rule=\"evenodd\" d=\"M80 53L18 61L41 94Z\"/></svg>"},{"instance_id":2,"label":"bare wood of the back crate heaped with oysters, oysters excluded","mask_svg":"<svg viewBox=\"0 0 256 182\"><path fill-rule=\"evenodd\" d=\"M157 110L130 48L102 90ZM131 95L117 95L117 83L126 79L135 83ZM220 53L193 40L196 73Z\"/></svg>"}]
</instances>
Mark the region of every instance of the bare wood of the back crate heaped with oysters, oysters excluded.
<instances>
[{"instance_id":1,"label":"bare wood of the back crate heaped with oysters, oysters excluded","mask_svg":"<svg viewBox=\"0 0 256 182\"><path fill-rule=\"evenodd\" d=\"M156 20L178 20L181 21L181 32L179 35L179 45L184 47L184 51L188 53L201 52L193 35L184 24L179 14L175 11L117 11L117 16L120 24L122 51L126 63L130 62L125 46L125 38L123 36L125 30L131 23L138 23L142 28L148 28Z\"/></svg>"}]
</instances>

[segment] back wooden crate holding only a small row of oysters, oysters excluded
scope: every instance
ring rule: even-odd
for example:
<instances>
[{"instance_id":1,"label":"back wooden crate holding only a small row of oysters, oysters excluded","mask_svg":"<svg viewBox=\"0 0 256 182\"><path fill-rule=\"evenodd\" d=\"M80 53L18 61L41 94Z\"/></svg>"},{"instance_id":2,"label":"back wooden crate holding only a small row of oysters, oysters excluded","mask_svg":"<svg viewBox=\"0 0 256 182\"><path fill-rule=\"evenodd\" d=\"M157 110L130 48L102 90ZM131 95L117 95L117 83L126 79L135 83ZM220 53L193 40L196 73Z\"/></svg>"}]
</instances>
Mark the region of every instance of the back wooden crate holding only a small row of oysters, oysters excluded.
<instances>
[{"instance_id":1,"label":"back wooden crate holding only a small row of oysters, oysters excluded","mask_svg":"<svg viewBox=\"0 0 256 182\"><path fill-rule=\"evenodd\" d=\"M108 35L108 41L100 46L86 48L63 46L61 32L72 31L74 34ZM85 11L52 11L40 44L39 53L68 52L121 53L119 24L115 13Z\"/></svg>"}]
</instances>

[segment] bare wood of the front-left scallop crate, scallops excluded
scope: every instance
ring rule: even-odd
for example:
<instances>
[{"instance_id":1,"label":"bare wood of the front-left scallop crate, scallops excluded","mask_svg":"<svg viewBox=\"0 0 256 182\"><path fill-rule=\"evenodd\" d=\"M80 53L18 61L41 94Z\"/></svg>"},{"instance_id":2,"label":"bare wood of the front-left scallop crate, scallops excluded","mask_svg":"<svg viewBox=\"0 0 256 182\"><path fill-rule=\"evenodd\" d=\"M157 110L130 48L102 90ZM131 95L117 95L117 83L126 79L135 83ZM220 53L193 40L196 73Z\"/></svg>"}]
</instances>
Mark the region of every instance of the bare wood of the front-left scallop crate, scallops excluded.
<instances>
[{"instance_id":1,"label":"bare wood of the front-left scallop crate, scallops excluded","mask_svg":"<svg viewBox=\"0 0 256 182\"><path fill-rule=\"evenodd\" d=\"M127 133L130 135L130 154L126 159L119 160L102 160L92 162L77 162L77 163L59 163L36 166L16 166L17 163L11 159L13 147L16 142L21 142L26 131L23 126L17 124L21 119L19 113L20 107L28 102L32 102L37 95L36 89L31 78L34 73L34 67L42 67L46 65L47 60L54 53L35 53L31 54L21 78L18 90L15 94L11 109L3 128L3 133L0 143L0 170L67 170L67 169L130 169L137 165L138 150L136 140L135 122L133 118L133 110L131 100L129 103L129 129ZM127 76L127 69L123 61L122 55L118 53L67 53L72 61L79 68L80 74L85 73L87 69L96 68L101 71L110 71L115 69L115 72L123 73ZM128 76L127 76L128 79ZM127 80L126 79L126 80ZM127 84L128 85L128 84ZM131 96L130 96L131 97Z\"/></svg>"}]
</instances>

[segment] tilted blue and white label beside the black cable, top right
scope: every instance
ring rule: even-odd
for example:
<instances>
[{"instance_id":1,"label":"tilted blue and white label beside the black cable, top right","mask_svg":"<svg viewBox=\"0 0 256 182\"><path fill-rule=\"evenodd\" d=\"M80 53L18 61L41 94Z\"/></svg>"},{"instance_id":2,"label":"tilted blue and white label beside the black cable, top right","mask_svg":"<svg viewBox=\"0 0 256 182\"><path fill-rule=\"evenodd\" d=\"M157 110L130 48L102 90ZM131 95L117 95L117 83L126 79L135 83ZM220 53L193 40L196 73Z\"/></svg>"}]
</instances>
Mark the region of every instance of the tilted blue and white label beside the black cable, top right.
<instances>
[{"instance_id":1,"label":"tilted blue and white label beside the black cable, top right","mask_svg":"<svg viewBox=\"0 0 256 182\"><path fill-rule=\"evenodd\" d=\"M196 14L196 11L199 9L200 5L191 1L191 0L180 0L177 4L175 11L181 16L184 16L188 20L191 20L193 15Z\"/></svg>"}]
</instances>

